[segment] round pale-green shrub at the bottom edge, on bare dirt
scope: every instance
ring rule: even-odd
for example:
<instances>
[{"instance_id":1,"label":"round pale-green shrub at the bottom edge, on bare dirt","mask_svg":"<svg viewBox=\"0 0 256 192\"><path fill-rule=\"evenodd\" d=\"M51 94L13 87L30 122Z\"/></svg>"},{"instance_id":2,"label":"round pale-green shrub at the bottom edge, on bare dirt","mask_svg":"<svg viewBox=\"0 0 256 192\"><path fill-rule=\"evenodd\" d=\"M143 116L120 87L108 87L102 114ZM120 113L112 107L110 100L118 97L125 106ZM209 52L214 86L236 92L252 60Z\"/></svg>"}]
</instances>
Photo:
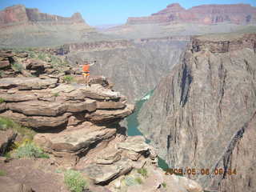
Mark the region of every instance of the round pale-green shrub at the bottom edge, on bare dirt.
<instances>
[{"instance_id":1,"label":"round pale-green shrub at the bottom edge, on bare dirt","mask_svg":"<svg viewBox=\"0 0 256 192\"><path fill-rule=\"evenodd\" d=\"M87 186L82 174L76 170L67 170L64 174L64 182L71 192L82 192Z\"/></svg>"}]
</instances>

